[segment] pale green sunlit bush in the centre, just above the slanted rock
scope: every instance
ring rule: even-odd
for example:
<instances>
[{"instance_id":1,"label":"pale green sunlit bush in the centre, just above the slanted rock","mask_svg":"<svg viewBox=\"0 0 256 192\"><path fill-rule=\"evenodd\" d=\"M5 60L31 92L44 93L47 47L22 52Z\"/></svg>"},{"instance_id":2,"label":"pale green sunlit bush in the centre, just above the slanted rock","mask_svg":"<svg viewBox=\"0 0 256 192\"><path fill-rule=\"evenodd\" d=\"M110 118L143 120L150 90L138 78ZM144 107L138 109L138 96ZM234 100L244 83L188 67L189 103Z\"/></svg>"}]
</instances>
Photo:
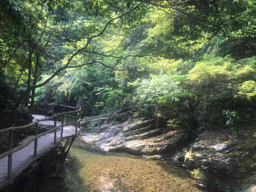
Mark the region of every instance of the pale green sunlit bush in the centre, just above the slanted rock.
<instances>
[{"instance_id":1,"label":"pale green sunlit bush in the centre, just above the slanted rock","mask_svg":"<svg viewBox=\"0 0 256 192\"><path fill-rule=\"evenodd\" d=\"M139 79L133 83L133 86L139 86L133 103L145 116L161 113L162 107L175 106L185 98L193 96L184 88L180 75L150 75L150 79L144 79L139 84L138 81Z\"/></svg>"}]
</instances>

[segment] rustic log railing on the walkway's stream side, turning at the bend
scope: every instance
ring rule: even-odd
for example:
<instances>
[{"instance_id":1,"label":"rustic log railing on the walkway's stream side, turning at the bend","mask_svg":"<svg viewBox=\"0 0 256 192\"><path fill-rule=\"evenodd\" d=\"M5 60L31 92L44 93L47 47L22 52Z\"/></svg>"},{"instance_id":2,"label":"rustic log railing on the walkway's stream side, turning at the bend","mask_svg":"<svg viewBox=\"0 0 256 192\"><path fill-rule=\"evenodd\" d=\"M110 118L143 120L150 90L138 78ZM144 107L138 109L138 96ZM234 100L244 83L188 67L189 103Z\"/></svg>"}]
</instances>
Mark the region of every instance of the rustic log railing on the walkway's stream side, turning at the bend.
<instances>
[{"instance_id":1,"label":"rustic log railing on the walkway's stream side, turning at the bend","mask_svg":"<svg viewBox=\"0 0 256 192\"><path fill-rule=\"evenodd\" d=\"M45 106L46 105L49 105L49 103L45 103ZM52 105L52 106L57 106L57 105ZM59 105L59 106L61 106L60 107L61 109L71 108L71 109L76 109L76 110L54 114L55 112L54 112L54 107L53 107L53 110L46 112L46 116L47 116L47 113L54 114L51 117L46 117L44 119L35 120L33 123L30 123L28 125L24 125L24 126L21 126L21 127L9 127L9 128L0 130L0 133L9 132L8 151L0 154L0 159L8 156L8 179L12 179L12 154L15 153L16 151L21 150L22 148L28 146L31 142L34 141L34 157L37 156L37 139L40 138L41 136L44 136L44 135L48 134L48 133L54 132L54 141L53 142L54 142L54 144L56 144L57 143L57 129L61 128L60 138L63 138L63 127L67 126L67 125L75 125L75 134L71 135L71 136L77 136L78 135L78 128L80 128L82 109L81 108L80 109L72 108L72 107L64 106L64 105ZM72 118L74 118L74 121L72 123L64 124L64 117L65 116L68 117L69 114L75 114L74 117L72 116ZM57 125L57 118L61 119L61 125L59 125L59 126L56 126ZM54 127L52 129L46 131L46 132L38 134L38 123L41 122L41 121L46 121L46 120L53 120L54 121ZM32 126L35 126L35 136L33 138L27 140L25 143L22 143L21 145L13 148L13 140L14 140L13 132L15 130L25 129L25 128L29 128L29 127L32 127Z\"/></svg>"}]
</instances>

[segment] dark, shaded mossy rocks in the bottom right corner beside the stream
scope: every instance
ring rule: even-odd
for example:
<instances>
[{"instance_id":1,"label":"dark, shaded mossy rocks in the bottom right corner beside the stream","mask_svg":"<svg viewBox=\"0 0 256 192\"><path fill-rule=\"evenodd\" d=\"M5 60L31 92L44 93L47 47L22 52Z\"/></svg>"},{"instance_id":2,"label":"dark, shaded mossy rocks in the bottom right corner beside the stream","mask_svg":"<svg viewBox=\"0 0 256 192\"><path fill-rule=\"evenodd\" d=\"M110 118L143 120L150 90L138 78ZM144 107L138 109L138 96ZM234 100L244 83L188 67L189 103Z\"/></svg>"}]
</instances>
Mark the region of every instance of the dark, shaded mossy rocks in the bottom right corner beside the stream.
<instances>
[{"instance_id":1,"label":"dark, shaded mossy rocks in the bottom right corner beside the stream","mask_svg":"<svg viewBox=\"0 0 256 192\"><path fill-rule=\"evenodd\" d=\"M256 129L237 136L227 129L200 134L185 155L191 175L204 185L224 192L255 192Z\"/></svg>"}]
</instances>

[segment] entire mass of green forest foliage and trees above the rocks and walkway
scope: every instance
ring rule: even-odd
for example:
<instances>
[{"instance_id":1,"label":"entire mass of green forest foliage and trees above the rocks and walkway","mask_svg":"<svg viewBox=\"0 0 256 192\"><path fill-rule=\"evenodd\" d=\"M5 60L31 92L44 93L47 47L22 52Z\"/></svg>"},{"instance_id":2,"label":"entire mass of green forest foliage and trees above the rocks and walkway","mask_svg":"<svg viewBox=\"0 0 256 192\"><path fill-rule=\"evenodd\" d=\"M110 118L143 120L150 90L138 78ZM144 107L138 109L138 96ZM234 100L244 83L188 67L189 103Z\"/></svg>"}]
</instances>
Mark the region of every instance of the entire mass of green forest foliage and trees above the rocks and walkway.
<instances>
[{"instance_id":1,"label":"entire mass of green forest foliage and trees above the rocks and walkway","mask_svg":"<svg viewBox=\"0 0 256 192\"><path fill-rule=\"evenodd\" d=\"M1 78L25 91L27 105L186 113L200 128L256 119L253 0L4 0L0 8Z\"/></svg>"}]
</instances>

